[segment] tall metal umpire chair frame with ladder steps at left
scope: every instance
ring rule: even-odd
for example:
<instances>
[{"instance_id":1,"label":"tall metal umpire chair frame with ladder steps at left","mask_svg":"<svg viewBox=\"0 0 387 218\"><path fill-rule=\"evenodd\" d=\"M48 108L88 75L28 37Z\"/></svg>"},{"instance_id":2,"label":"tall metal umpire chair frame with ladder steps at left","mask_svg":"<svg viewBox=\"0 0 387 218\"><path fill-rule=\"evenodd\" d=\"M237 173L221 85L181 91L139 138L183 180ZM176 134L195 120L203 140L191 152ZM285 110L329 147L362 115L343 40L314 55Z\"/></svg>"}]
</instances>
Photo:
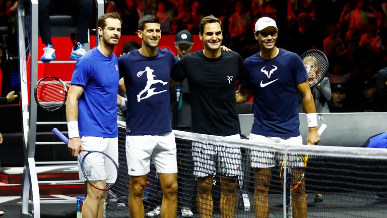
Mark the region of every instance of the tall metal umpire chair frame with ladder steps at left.
<instances>
[{"instance_id":1,"label":"tall metal umpire chair frame with ladder steps at left","mask_svg":"<svg viewBox=\"0 0 387 218\"><path fill-rule=\"evenodd\" d=\"M97 17L104 13L104 1L95 0ZM38 181L37 165L77 165L77 161L35 161L35 146L42 144L64 144L63 142L36 142L36 125L66 124L66 122L37 122L37 104L34 100L34 88L37 83L38 72L38 0L29 0L31 5L31 33L26 29L26 14L24 1L18 5L18 41L19 41L19 71L22 92L22 124L23 124L23 147L24 147L24 169L21 193L21 215L20 217L40 217L40 203L74 203L76 199L41 199L39 185L48 184L83 184L79 180L63 181ZM29 63L27 62L25 38L29 38ZM96 36L98 45L98 32ZM50 64L75 63L75 61L52 61ZM28 91L27 64L30 66L30 84ZM30 208L30 203L31 207ZM30 212L31 211L31 212Z\"/></svg>"}]
</instances>

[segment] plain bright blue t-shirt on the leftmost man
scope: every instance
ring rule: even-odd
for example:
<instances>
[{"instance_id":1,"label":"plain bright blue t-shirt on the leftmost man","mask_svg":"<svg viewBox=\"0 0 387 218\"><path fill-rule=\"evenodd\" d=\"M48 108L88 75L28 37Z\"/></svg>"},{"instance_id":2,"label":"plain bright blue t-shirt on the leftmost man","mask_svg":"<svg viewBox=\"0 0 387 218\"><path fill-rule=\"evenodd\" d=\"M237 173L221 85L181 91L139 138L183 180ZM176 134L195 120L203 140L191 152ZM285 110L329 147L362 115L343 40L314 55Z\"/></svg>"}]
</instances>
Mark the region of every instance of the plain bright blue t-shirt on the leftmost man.
<instances>
[{"instance_id":1,"label":"plain bright blue t-shirt on the leftmost man","mask_svg":"<svg viewBox=\"0 0 387 218\"><path fill-rule=\"evenodd\" d=\"M118 60L114 54L105 57L95 47L77 61L71 85L85 88L78 99L80 136L118 137L118 81Z\"/></svg>"}]
</instances>

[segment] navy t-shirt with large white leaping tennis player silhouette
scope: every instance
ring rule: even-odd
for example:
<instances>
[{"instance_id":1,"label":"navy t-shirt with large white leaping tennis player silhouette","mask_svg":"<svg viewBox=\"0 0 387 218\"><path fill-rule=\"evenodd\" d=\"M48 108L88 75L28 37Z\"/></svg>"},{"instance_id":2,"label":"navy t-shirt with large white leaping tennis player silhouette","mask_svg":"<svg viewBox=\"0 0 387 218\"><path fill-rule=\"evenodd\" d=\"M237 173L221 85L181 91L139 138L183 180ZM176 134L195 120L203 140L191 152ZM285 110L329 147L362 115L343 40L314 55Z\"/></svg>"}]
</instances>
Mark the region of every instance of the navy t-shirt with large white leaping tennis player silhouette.
<instances>
[{"instance_id":1,"label":"navy t-shirt with large white leaping tennis player silhouette","mask_svg":"<svg viewBox=\"0 0 387 218\"><path fill-rule=\"evenodd\" d=\"M118 59L127 94L126 135L157 135L172 131L169 77L178 59L168 49L155 57L134 50Z\"/></svg>"}]
</instances>

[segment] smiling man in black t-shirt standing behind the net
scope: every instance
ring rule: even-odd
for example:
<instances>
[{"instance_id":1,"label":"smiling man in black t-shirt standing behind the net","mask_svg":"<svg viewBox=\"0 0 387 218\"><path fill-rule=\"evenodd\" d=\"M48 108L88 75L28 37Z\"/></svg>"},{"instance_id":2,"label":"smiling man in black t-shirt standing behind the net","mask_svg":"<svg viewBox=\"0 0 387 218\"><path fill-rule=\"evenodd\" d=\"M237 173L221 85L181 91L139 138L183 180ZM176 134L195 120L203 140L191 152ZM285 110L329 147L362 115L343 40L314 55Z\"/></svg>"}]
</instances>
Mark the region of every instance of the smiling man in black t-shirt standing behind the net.
<instances>
[{"instance_id":1,"label":"smiling man in black t-shirt standing behind the net","mask_svg":"<svg viewBox=\"0 0 387 218\"><path fill-rule=\"evenodd\" d=\"M172 72L172 79L187 78L192 116L191 131L201 134L226 136L239 139L238 115L235 102L235 80L242 69L242 59L236 52L224 52L222 23L214 16L204 17L200 23L200 39L204 50L184 56ZM222 152L224 150L231 152ZM238 146L205 146L192 143L193 174L197 176L198 212L200 217L212 217L212 182L216 173L221 174L222 217L234 217L237 178L241 176L240 148ZM235 158L237 157L237 158ZM226 167L226 166L231 166Z\"/></svg>"}]
</instances>

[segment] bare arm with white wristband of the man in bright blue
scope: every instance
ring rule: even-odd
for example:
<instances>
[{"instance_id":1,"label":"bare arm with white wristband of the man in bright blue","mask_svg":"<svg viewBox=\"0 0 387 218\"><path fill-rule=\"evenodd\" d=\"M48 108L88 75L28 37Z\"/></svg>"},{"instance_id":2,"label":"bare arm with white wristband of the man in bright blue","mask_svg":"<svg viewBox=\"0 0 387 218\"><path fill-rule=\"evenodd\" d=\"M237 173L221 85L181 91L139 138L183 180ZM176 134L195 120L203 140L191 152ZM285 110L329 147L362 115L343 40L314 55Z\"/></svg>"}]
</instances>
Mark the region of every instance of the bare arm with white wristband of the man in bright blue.
<instances>
[{"instance_id":1,"label":"bare arm with white wristband of the man in bright blue","mask_svg":"<svg viewBox=\"0 0 387 218\"><path fill-rule=\"evenodd\" d=\"M68 148L73 156L77 156L81 147L81 138L78 131L78 99L84 91L83 86L71 85L67 95L66 119L69 131Z\"/></svg>"}]
</instances>

